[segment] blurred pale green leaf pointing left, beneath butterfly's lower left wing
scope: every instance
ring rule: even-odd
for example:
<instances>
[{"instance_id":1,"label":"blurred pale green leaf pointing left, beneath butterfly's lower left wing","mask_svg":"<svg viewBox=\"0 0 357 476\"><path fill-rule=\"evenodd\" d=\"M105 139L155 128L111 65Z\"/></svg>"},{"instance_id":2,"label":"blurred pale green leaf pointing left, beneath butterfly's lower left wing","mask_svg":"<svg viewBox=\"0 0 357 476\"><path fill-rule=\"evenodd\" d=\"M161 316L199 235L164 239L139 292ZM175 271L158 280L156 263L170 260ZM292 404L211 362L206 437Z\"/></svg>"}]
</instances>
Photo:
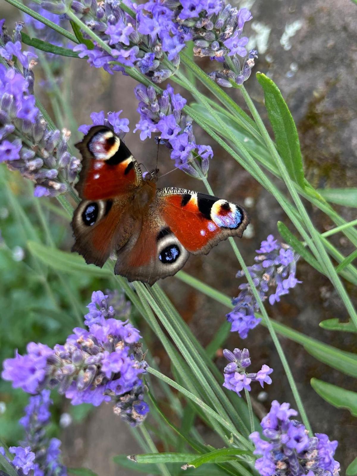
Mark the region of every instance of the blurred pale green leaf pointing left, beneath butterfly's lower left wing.
<instances>
[{"instance_id":1,"label":"blurred pale green leaf pointing left, beneath butterfly's lower left wing","mask_svg":"<svg viewBox=\"0 0 357 476\"><path fill-rule=\"evenodd\" d=\"M36 258L39 258L40 261L57 271L65 273L86 273L91 276L98 276L99 278L109 278L113 276L108 268L87 265L84 258L74 253L67 253L57 248L50 248L35 241L28 241L27 247Z\"/></svg>"}]
</instances>

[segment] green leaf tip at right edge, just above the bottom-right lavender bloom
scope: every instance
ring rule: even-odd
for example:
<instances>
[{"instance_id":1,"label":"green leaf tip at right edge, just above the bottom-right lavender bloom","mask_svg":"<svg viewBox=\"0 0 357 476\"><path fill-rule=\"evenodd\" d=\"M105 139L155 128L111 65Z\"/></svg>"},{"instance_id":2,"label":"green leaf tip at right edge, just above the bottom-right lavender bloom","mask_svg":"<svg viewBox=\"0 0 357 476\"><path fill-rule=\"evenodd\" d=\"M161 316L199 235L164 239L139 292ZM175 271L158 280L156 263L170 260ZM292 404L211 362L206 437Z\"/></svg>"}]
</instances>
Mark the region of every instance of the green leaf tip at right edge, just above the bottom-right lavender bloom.
<instances>
[{"instance_id":1,"label":"green leaf tip at right edge, just above the bottom-right lavender bloom","mask_svg":"<svg viewBox=\"0 0 357 476\"><path fill-rule=\"evenodd\" d=\"M347 408L353 417L357 417L357 393L346 388L337 387L317 378L310 380L315 392L336 408Z\"/></svg>"}]
</instances>

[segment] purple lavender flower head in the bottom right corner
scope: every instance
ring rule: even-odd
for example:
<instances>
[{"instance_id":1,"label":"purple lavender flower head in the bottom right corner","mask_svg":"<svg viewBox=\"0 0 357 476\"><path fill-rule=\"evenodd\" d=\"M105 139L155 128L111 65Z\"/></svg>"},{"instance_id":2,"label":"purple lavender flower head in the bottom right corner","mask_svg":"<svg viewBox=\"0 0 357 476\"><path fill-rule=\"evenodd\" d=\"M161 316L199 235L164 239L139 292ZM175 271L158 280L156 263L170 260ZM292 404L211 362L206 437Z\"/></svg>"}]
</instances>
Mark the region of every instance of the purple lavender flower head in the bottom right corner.
<instances>
[{"instance_id":1,"label":"purple lavender flower head in the bottom right corner","mask_svg":"<svg viewBox=\"0 0 357 476\"><path fill-rule=\"evenodd\" d=\"M255 462L259 474L337 476L340 469L334 459L337 441L330 441L323 433L309 437L301 422L290 419L295 416L297 412L288 403L280 405L274 400L260 424L266 440L258 431L249 436L256 447L254 454L262 455Z\"/></svg>"}]
</instances>

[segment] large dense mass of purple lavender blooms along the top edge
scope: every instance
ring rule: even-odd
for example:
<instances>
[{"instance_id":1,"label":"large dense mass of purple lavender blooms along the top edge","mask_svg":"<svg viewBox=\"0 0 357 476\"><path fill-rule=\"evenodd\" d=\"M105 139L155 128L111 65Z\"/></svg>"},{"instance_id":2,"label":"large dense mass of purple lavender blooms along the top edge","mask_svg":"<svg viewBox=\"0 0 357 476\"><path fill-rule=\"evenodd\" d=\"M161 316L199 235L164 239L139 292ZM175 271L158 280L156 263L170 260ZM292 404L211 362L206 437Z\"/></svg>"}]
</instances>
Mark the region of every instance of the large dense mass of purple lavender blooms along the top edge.
<instances>
[{"instance_id":1,"label":"large dense mass of purple lavender blooms along the top edge","mask_svg":"<svg viewBox=\"0 0 357 476\"><path fill-rule=\"evenodd\" d=\"M70 4L70 6L68 5ZM180 62L179 52L188 40L194 41L194 54L224 62L223 71L211 74L221 86L242 84L254 66L256 51L245 57L248 38L242 36L244 24L252 16L224 0L149 0L140 5L126 0L117 2L42 1L42 7L57 14L72 10L93 30L109 49L94 42L94 49L80 44L74 47L80 58L88 57L95 68L109 73L136 66L152 81L160 83L171 76ZM83 36L89 36L83 32ZM167 60L166 60L167 57ZM225 59L231 59L229 63ZM229 66L228 66L229 64Z\"/></svg>"}]
</instances>

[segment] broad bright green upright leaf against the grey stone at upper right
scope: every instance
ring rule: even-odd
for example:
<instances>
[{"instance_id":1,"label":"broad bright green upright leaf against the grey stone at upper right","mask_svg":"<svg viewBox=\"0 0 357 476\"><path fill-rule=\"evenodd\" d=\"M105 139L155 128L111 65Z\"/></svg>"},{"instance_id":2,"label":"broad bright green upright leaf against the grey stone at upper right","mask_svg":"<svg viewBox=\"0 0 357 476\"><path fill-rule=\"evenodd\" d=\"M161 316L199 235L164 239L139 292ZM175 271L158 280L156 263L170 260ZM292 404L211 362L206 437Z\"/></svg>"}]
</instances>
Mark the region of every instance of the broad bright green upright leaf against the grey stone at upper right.
<instances>
[{"instance_id":1,"label":"broad bright green upright leaf against the grey stone at upper right","mask_svg":"<svg viewBox=\"0 0 357 476\"><path fill-rule=\"evenodd\" d=\"M294 119L278 86L263 73L257 73L257 79L264 90L265 107L279 155L288 169L290 178L304 189L304 169Z\"/></svg>"}]
</instances>

